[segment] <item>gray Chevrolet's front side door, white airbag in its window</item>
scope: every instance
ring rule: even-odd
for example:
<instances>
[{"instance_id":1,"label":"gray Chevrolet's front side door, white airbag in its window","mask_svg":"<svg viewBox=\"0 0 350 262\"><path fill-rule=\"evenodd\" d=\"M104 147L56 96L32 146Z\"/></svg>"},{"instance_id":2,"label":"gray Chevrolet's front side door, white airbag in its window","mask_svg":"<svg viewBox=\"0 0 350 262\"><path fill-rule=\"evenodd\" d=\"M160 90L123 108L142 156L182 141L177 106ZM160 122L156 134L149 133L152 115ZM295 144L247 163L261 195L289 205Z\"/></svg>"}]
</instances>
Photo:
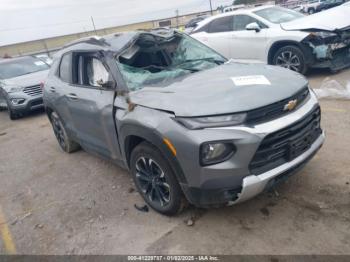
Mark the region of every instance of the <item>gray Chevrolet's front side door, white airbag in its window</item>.
<instances>
[{"instance_id":1,"label":"gray Chevrolet's front side door, white airbag in its window","mask_svg":"<svg viewBox=\"0 0 350 262\"><path fill-rule=\"evenodd\" d=\"M115 89L103 87L116 85L109 68L101 53L73 53L73 83L65 97L79 143L90 151L120 159L113 114Z\"/></svg>"}]
</instances>

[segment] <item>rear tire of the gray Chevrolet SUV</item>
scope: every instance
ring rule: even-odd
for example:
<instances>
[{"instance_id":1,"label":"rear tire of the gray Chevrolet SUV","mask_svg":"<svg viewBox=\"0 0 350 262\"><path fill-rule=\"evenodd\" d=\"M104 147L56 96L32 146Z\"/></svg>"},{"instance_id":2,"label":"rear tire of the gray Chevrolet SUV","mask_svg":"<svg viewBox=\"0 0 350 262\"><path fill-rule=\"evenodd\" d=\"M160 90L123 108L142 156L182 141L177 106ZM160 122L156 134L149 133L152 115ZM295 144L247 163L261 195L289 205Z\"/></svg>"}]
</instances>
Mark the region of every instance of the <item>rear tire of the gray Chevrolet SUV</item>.
<instances>
[{"instance_id":1,"label":"rear tire of the gray Chevrolet SUV","mask_svg":"<svg viewBox=\"0 0 350 262\"><path fill-rule=\"evenodd\" d=\"M73 153L79 150L80 146L78 143L73 141L67 134L67 131L56 112L52 112L50 115L50 120L52 124L52 128L58 144L62 148L63 151L67 153Z\"/></svg>"}]
</instances>

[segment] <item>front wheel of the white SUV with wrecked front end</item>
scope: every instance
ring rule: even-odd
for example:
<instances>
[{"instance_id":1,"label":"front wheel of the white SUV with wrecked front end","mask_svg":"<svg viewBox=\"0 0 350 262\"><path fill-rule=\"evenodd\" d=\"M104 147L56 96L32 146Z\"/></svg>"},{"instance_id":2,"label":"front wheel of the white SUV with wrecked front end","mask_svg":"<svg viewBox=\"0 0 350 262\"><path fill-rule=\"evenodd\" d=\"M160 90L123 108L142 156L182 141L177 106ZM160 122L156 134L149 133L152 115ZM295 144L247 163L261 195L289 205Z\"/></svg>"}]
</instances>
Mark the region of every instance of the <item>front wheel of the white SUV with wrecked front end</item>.
<instances>
[{"instance_id":1,"label":"front wheel of the white SUV with wrecked front end","mask_svg":"<svg viewBox=\"0 0 350 262\"><path fill-rule=\"evenodd\" d=\"M281 47L273 56L272 64L288 68L301 74L307 71L305 56L297 46L287 45Z\"/></svg>"}]
</instances>

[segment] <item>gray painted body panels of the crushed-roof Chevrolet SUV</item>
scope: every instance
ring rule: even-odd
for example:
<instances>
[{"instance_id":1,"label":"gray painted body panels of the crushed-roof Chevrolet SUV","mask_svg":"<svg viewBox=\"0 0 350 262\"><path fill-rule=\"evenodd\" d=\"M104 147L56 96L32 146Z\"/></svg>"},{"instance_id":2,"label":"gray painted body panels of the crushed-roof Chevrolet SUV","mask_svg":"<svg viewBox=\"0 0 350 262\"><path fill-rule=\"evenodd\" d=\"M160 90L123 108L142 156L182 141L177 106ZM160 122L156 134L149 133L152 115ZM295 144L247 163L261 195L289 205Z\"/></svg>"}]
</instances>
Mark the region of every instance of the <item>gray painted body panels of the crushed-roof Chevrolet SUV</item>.
<instances>
[{"instance_id":1,"label":"gray painted body panels of the crushed-roof Chevrolet SUV","mask_svg":"<svg viewBox=\"0 0 350 262\"><path fill-rule=\"evenodd\" d=\"M91 45L80 43L78 50L83 50L84 46L92 49ZM72 50L73 46L61 54ZM110 68L114 68L111 54L107 52L105 60ZM293 95L305 87L307 81L301 75L279 67L228 63L174 80L163 87L121 93L119 91L125 91L125 83L116 67L111 71L118 84L116 90L104 90L62 82L56 75L58 63L59 59L56 59L46 82L44 102L49 111L59 114L74 140L84 149L127 167L128 137L143 138L158 147L174 170L178 170L176 173L185 194L189 194L189 188L223 190L242 186L245 177L253 176L248 166L262 139L295 123L317 105L316 97L311 94L311 99L294 112L255 127L189 130L173 120L175 115L216 115L258 108ZM266 76L271 85L238 87L230 79L260 74ZM72 93L77 99L69 99ZM136 103L131 111L128 110L128 98ZM176 157L164 145L163 138L170 139L176 148ZM218 140L232 141L237 152L225 162L201 166L200 145ZM184 179L181 179L182 174ZM187 197L192 199L190 195Z\"/></svg>"}]
</instances>

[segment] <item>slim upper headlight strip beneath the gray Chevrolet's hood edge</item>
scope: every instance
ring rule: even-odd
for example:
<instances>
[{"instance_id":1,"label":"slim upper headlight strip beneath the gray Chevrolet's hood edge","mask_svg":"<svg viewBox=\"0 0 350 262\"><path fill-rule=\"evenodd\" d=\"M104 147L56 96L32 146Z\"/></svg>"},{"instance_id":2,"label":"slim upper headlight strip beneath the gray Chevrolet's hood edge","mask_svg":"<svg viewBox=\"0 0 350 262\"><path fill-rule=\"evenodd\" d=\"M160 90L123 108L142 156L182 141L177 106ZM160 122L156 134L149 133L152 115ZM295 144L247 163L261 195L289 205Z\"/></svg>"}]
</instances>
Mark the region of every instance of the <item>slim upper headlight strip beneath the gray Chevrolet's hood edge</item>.
<instances>
[{"instance_id":1,"label":"slim upper headlight strip beneath the gray Chevrolet's hood edge","mask_svg":"<svg viewBox=\"0 0 350 262\"><path fill-rule=\"evenodd\" d=\"M232 114L207 117L176 117L175 120L189 129L235 126L243 124L247 114Z\"/></svg>"}]
</instances>

